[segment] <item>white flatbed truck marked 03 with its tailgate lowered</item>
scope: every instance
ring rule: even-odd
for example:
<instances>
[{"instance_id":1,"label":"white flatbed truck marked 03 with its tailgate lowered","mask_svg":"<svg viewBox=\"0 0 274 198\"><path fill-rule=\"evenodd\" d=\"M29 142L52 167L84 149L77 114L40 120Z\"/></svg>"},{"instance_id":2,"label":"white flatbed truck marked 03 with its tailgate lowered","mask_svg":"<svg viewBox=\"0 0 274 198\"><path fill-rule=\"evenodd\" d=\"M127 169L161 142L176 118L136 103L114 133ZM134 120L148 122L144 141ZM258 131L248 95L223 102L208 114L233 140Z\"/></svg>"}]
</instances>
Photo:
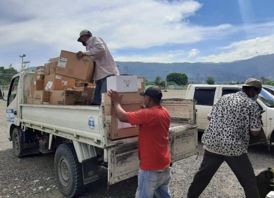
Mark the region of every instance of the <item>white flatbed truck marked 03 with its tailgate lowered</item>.
<instances>
[{"instance_id":1,"label":"white flatbed truck marked 03 with its tailgate lowered","mask_svg":"<svg viewBox=\"0 0 274 198\"><path fill-rule=\"evenodd\" d=\"M13 153L55 152L55 177L66 197L81 195L98 179L97 166L107 167L108 186L137 175L138 137L107 139L104 106L27 104L33 71L16 74L7 94L6 133ZM0 90L0 99L4 99ZM163 99L171 113L169 148L172 161L197 153L193 99Z\"/></svg>"}]
</instances>

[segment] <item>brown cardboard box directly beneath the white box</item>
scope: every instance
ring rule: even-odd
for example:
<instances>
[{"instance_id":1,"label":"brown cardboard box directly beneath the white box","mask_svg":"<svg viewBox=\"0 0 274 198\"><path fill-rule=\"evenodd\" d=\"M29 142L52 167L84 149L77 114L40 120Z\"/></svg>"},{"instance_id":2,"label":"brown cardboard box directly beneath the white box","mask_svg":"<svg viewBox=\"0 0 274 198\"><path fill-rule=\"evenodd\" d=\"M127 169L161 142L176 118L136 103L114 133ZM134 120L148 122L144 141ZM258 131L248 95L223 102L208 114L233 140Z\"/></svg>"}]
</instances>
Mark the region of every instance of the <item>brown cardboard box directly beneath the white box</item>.
<instances>
[{"instance_id":1,"label":"brown cardboard box directly beneath the white box","mask_svg":"<svg viewBox=\"0 0 274 198\"><path fill-rule=\"evenodd\" d=\"M141 104L143 102L143 97L139 95L137 92L133 93L118 93L119 95L122 94L121 98L121 106L122 108L129 112L129 111L137 111L140 110ZM102 94L102 101L101 106L104 106L104 114L105 115L116 115L114 111L114 105L112 100L110 99L107 94Z\"/></svg>"}]
</instances>

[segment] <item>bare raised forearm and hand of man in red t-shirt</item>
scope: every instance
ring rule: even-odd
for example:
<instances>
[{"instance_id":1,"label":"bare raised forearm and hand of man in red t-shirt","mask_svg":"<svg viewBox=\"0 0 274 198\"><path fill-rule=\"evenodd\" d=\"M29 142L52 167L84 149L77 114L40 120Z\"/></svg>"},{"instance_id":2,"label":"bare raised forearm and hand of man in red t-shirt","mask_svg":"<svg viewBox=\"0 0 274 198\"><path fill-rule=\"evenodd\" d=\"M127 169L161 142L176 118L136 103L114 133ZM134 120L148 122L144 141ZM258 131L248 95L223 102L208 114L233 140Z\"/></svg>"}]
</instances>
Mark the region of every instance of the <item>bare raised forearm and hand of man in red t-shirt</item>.
<instances>
[{"instance_id":1,"label":"bare raised forearm and hand of man in red t-shirt","mask_svg":"<svg viewBox=\"0 0 274 198\"><path fill-rule=\"evenodd\" d=\"M109 90L107 95L113 101L114 111L115 111L115 114L116 114L117 118L121 122L128 122L129 123L129 120L127 118L127 112L121 106L121 97L122 97L122 95L119 96L118 93L116 91L113 91L113 90Z\"/></svg>"}]
</instances>

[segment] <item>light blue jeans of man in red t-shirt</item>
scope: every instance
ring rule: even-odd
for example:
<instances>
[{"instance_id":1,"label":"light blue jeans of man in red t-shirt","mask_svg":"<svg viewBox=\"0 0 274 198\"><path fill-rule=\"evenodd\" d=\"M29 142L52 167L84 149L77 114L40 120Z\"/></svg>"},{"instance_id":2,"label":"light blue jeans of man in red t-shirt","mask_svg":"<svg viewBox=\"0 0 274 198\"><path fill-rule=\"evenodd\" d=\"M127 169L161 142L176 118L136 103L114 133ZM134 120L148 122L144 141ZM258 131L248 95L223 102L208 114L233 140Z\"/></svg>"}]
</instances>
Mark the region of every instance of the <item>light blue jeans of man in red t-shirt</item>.
<instances>
[{"instance_id":1,"label":"light blue jeans of man in red t-shirt","mask_svg":"<svg viewBox=\"0 0 274 198\"><path fill-rule=\"evenodd\" d=\"M138 188L135 198L153 198L154 193L157 198L171 198L170 179L170 167L153 171L139 169Z\"/></svg>"}]
</instances>

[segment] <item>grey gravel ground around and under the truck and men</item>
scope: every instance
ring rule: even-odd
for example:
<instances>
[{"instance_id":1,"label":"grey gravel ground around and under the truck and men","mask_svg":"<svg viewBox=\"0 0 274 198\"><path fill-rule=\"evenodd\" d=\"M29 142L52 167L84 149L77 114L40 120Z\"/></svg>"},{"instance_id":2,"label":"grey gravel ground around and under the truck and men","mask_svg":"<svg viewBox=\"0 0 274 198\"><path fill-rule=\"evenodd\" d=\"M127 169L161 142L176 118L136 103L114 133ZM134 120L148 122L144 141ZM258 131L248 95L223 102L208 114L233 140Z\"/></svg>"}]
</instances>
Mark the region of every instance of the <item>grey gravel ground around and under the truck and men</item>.
<instances>
[{"instance_id":1,"label":"grey gravel ground around and under the truck and men","mask_svg":"<svg viewBox=\"0 0 274 198\"><path fill-rule=\"evenodd\" d=\"M185 91L163 93L165 98L182 98ZM0 100L0 198L64 198L54 177L54 153L35 154L17 158L5 134L5 106ZM172 167L170 190L173 198L185 198L187 189L202 160L203 148L198 144L199 155L175 162ZM274 167L274 151L267 146L253 146L248 151L255 174ZM197 158L196 158L197 157ZM137 177L119 182L107 190L107 170L99 169L99 180L86 186L80 198L134 198ZM226 163L222 164L200 198L244 198L244 192Z\"/></svg>"}]
</instances>

